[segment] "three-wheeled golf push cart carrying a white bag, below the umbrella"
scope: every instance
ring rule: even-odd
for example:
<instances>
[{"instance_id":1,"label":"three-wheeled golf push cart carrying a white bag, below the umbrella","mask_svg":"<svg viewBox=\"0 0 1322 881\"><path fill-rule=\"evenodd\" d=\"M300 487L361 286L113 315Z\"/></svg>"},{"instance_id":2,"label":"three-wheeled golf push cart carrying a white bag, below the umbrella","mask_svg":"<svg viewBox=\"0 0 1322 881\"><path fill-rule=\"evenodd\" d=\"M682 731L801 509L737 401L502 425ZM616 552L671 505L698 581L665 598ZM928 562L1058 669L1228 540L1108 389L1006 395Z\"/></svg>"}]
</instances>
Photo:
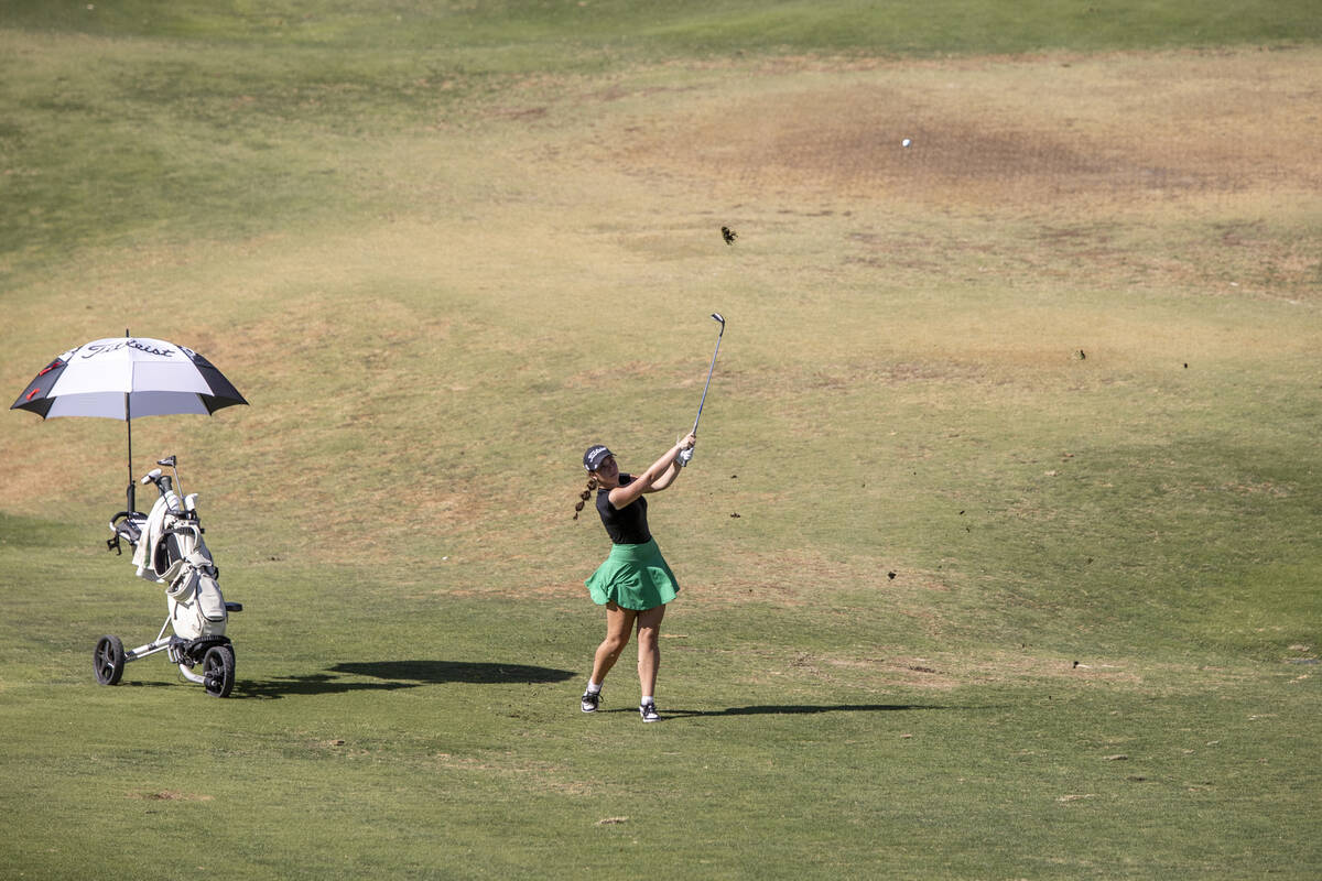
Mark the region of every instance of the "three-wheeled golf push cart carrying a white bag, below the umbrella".
<instances>
[{"instance_id":1,"label":"three-wheeled golf push cart carrying a white bag, below the umbrella","mask_svg":"<svg viewBox=\"0 0 1322 881\"><path fill-rule=\"evenodd\" d=\"M164 651L185 679L202 686L212 697L226 697L234 688L234 646L225 635L225 625L229 613L242 612L243 606L221 596L219 571L202 542L197 494L180 499L175 457L156 464L172 469L173 481L160 468L141 478L143 485L155 483L160 491L151 514L134 510L135 486L130 483L128 510L110 519L114 538L106 546L123 553L120 540L127 540L134 548L137 576L165 585L165 623L156 639L130 651L124 651L119 637L102 637L93 654L93 668L98 683L114 686L130 660ZM167 637L167 630L173 633ZM198 664L201 674L193 671Z\"/></svg>"}]
</instances>

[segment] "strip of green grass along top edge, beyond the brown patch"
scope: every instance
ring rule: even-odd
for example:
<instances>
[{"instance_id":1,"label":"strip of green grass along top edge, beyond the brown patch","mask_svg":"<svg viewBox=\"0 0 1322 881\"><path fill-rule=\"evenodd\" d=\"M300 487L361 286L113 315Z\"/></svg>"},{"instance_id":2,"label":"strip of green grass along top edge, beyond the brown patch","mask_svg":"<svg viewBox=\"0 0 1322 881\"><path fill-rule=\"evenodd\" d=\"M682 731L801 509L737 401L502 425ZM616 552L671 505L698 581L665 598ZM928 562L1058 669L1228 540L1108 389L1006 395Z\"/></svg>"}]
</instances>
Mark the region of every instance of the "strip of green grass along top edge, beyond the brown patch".
<instances>
[{"instance_id":1,"label":"strip of green grass along top edge, beyond the brown patch","mask_svg":"<svg viewBox=\"0 0 1322 881\"><path fill-rule=\"evenodd\" d=\"M1318 36L1302 0L1264 5L1112 3L1105 8L1068 0L1034 0L1009 9L937 0L921 7L854 1L777 3L680 0L642 7L627 0L595 3L432 4L408 0L358 4L330 1L308 8L278 1L184 0L116 4L15 0L11 26L97 36L161 36L177 40L259 42L271 46L338 46L416 52L436 48L477 52L518 63L609 65L620 57L672 58L739 50L940 53L1105 50L1153 46L1215 46ZM497 52L492 52L497 50ZM575 58L576 55L576 58Z\"/></svg>"}]
</instances>

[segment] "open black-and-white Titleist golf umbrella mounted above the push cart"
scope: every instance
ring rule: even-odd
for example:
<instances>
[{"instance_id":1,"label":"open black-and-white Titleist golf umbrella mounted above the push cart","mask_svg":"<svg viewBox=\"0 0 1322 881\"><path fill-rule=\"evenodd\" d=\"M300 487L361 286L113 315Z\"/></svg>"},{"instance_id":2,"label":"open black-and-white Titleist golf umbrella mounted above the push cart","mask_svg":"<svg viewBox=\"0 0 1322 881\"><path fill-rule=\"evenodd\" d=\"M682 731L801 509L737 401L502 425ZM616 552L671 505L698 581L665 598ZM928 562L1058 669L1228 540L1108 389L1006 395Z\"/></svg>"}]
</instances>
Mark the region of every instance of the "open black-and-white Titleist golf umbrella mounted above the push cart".
<instances>
[{"instance_id":1,"label":"open black-and-white Titleist golf umbrella mounted above the push cart","mask_svg":"<svg viewBox=\"0 0 1322 881\"><path fill-rule=\"evenodd\" d=\"M164 339L126 333L94 339L59 355L37 374L9 409L28 409L42 419L100 416L124 420L132 491L131 420L175 413L209 415L234 404L247 402L202 355Z\"/></svg>"}]
</instances>

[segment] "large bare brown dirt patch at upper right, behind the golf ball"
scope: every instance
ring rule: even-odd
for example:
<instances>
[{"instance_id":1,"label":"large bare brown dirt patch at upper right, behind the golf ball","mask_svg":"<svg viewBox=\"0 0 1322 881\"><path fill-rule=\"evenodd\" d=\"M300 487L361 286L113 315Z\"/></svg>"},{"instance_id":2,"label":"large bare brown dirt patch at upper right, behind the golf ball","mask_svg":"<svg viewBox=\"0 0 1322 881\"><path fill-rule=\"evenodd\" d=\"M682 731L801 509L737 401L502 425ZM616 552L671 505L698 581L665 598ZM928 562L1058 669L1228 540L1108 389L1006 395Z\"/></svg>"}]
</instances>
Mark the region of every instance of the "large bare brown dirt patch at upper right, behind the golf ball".
<instances>
[{"instance_id":1,"label":"large bare brown dirt patch at upper right, behind the golf ball","mask_svg":"<svg viewBox=\"0 0 1322 881\"><path fill-rule=\"evenodd\" d=\"M628 127L613 161L743 192L997 206L1322 186L1314 50L837 73L740 81Z\"/></svg>"}]
</instances>

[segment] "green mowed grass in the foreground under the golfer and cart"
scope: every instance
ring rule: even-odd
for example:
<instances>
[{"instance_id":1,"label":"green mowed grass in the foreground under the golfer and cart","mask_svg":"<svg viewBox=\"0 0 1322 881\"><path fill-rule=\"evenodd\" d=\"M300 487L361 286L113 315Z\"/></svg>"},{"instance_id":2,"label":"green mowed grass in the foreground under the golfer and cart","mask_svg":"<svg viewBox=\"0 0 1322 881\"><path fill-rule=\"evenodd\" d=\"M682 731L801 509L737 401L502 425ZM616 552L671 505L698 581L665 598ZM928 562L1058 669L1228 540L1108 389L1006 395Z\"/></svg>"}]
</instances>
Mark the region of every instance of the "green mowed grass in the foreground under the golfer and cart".
<instances>
[{"instance_id":1,"label":"green mowed grass in the foreground under the golfer and cart","mask_svg":"<svg viewBox=\"0 0 1322 881\"><path fill-rule=\"evenodd\" d=\"M914 637L883 601L695 601L669 621L669 719L644 728L623 670L603 712L574 709L598 630L578 602L280 567L230 577L241 682L212 701L157 658L90 683L71 631L151 635L145 589L103 567L75 564L97 586L45 623L7 604L26 623L7 639L7 849L34 877L169 873L175 848L245 877L1309 872L1317 700L1282 659L1076 667Z\"/></svg>"}]
</instances>

